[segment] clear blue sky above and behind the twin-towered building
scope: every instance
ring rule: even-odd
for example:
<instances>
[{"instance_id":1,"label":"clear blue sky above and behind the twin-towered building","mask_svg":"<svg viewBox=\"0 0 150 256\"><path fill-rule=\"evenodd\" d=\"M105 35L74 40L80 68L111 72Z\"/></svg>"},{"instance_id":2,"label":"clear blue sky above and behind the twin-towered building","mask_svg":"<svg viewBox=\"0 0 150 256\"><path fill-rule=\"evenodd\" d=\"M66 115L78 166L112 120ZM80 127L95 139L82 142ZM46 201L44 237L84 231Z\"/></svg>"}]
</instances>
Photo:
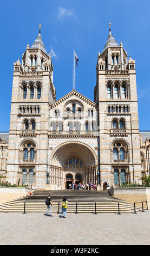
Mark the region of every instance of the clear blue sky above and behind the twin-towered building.
<instances>
[{"instance_id":1,"label":"clear blue sky above and behind the twin-towered building","mask_svg":"<svg viewBox=\"0 0 150 256\"><path fill-rule=\"evenodd\" d=\"M73 89L73 51L79 58L75 89L94 100L96 62L112 34L136 62L140 130L150 130L149 0L8 0L1 2L0 131L9 131L13 64L41 35L54 66L56 99Z\"/></svg>"}]
</instances>

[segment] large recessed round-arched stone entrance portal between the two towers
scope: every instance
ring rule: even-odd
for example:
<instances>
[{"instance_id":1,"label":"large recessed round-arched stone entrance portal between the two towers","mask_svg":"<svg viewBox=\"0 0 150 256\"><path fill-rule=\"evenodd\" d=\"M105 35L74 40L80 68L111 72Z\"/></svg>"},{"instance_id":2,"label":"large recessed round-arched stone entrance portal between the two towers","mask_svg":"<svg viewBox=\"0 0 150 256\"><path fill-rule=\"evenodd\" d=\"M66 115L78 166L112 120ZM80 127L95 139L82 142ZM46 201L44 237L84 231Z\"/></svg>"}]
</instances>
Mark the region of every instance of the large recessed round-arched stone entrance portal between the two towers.
<instances>
[{"instance_id":1,"label":"large recessed round-arched stone entrance portal between the two towers","mask_svg":"<svg viewBox=\"0 0 150 256\"><path fill-rule=\"evenodd\" d=\"M62 143L51 154L50 163L49 184L57 184L64 189L69 187L69 183L86 185L90 181L97 184L97 156L83 142Z\"/></svg>"}]
</instances>

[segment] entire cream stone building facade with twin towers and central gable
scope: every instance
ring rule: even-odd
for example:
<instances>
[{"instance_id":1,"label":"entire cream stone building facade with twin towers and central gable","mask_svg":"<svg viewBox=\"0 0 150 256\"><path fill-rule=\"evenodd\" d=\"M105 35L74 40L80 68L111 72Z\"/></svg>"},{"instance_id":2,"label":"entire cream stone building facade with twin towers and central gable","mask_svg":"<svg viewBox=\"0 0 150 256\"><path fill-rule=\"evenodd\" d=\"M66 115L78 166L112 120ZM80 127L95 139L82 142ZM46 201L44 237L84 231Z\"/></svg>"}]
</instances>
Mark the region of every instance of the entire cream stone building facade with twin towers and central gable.
<instances>
[{"instance_id":1,"label":"entire cream stone building facade with twin towers and central gable","mask_svg":"<svg viewBox=\"0 0 150 256\"><path fill-rule=\"evenodd\" d=\"M56 101L53 64L40 31L27 45L22 64L14 63L7 180L49 190L71 182L90 181L98 189L106 180L115 186L140 183L141 172L149 170L145 143L139 132L135 60L128 60L111 30L97 57L94 101L75 89Z\"/></svg>"}]
</instances>

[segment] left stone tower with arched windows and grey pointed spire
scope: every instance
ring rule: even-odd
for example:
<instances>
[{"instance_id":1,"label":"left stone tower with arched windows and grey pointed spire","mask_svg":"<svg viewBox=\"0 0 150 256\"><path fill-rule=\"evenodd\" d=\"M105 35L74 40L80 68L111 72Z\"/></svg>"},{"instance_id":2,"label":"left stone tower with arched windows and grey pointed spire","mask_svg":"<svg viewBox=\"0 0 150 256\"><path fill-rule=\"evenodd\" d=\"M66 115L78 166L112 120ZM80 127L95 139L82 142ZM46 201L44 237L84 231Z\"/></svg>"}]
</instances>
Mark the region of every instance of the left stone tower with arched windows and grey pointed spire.
<instances>
[{"instance_id":1,"label":"left stone tower with arched windows and grey pointed spire","mask_svg":"<svg viewBox=\"0 0 150 256\"><path fill-rule=\"evenodd\" d=\"M56 100L53 64L40 31L26 47L22 64L14 63L7 178L11 184L27 180L45 184L48 169L49 107ZM22 173L22 174L21 174Z\"/></svg>"}]
</instances>

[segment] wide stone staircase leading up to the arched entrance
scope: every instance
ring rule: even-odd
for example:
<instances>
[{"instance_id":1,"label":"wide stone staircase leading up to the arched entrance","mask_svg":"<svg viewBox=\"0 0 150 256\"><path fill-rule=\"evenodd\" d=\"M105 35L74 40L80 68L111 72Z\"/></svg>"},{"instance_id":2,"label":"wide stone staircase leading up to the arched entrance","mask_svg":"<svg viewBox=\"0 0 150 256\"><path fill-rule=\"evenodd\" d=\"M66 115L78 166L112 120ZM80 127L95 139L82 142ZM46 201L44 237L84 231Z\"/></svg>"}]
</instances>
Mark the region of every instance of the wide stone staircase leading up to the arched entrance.
<instances>
[{"instance_id":1,"label":"wide stone staircase leading up to the arched entrance","mask_svg":"<svg viewBox=\"0 0 150 256\"><path fill-rule=\"evenodd\" d=\"M60 202L61 212L61 201L64 196L68 200L67 212L87 212L95 213L118 213L118 203L120 207L120 213L133 213L134 204L125 202L119 198L109 196L107 191L35 191L33 196L26 196L11 200L0 205L0 212L47 212L47 205L45 205L45 199L51 195L53 203L52 214L58 211L58 202ZM141 206L136 206L136 211L141 211Z\"/></svg>"}]
</instances>

